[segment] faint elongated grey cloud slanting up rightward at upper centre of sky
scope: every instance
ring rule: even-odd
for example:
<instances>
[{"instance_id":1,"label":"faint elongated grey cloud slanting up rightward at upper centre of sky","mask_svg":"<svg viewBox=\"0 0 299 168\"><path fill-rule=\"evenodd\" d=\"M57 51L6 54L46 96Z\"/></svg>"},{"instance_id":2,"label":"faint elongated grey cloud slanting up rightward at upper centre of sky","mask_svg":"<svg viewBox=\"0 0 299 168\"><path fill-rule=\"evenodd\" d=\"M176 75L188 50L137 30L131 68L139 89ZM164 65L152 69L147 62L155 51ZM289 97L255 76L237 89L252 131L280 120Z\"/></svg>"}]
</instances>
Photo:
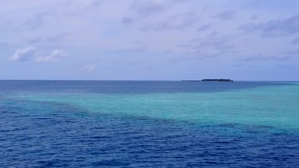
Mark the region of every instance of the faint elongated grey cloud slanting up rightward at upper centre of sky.
<instances>
[{"instance_id":1,"label":"faint elongated grey cloud slanting up rightward at upper centre of sky","mask_svg":"<svg viewBox=\"0 0 299 168\"><path fill-rule=\"evenodd\" d=\"M182 13L171 16L164 21L141 28L142 31L148 30L183 30L191 26L199 18L194 12Z\"/></svg>"}]
</instances>

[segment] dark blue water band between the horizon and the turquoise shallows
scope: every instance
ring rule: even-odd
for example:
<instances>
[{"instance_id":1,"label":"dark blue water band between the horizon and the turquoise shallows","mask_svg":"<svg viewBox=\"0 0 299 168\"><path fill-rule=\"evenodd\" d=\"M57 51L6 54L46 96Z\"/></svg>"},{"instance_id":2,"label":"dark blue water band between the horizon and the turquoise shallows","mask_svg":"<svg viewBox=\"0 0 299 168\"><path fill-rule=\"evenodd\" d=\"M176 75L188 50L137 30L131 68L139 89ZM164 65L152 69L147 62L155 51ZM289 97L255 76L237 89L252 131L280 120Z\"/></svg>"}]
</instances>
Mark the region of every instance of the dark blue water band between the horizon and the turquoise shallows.
<instances>
[{"instance_id":1,"label":"dark blue water band between the horizon and the turquoise shallows","mask_svg":"<svg viewBox=\"0 0 299 168\"><path fill-rule=\"evenodd\" d=\"M1 93L62 92L99 94L221 92L263 86L288 85L287 82L192 82L192 81L111 81L111 80L1 80Z\"/></svg>"}]
</instances>

